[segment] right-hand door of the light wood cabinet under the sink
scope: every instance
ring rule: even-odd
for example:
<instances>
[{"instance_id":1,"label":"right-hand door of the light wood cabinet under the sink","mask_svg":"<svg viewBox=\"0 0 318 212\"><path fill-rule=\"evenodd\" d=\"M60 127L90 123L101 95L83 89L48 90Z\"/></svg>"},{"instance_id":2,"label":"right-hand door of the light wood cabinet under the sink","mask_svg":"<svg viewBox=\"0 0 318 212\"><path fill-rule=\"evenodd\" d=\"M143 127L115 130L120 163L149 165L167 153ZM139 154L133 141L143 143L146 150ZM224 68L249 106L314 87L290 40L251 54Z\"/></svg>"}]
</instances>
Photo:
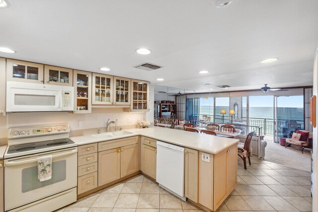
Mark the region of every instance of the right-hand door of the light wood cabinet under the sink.
<instances>
[{"instance_id":1,"label":"right-hand door of the light wood cabinet under the sink","mask_svg":"<svg viewBox=\"0 0 318 212\"><path fill-rule=\"evenodd\" d=\"M123 146L120 152L120 177L125 177L140 170L139 144Z\"/></svg>"}]
</instances>

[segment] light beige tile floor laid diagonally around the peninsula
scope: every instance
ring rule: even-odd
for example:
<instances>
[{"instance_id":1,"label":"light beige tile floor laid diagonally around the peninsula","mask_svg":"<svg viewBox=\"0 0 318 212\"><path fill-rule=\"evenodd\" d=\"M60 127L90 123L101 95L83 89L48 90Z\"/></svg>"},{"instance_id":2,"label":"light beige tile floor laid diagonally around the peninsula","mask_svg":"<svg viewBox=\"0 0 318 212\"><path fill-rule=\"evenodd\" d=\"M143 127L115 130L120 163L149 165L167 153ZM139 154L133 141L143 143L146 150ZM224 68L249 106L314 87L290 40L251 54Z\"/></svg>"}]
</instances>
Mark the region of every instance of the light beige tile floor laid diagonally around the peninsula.
<instances>
[{"instance_id":1,"label":"light beige tile floor laid diagonally around the peninsula","mask_svg":"<svg viewBox=\"0 0 318 212\"><path fill-rule=\"evenodd\" d=\"M218 212L311 212L310 172L252 158L238 158L238 186ZM144 175L100 190L56 212L199 212Z\"/></svg>"}]
</instances>

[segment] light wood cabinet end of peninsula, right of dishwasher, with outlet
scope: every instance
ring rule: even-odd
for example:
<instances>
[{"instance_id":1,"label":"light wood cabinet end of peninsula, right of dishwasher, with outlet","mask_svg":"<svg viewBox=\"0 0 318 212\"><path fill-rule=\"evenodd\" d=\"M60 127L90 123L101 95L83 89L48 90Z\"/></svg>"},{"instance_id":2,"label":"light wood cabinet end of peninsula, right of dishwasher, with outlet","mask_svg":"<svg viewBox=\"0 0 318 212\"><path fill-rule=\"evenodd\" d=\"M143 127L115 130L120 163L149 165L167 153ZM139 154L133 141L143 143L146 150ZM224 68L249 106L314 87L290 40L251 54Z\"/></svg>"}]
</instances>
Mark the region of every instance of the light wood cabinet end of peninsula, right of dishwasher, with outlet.
<instances>
[{"instance_id":1,"label":"light wood cabinet end of peninsula, right of dishwasher, with outlet","mask_svg":"<svg viewBox=\"0 0 318 212\"><path fill-rule=\"evenodd\" d=\"M237 144L210 154L210 162L203 161L199 152L198 203L216 211L237 185Z\"/></svg>"}]
</instances>

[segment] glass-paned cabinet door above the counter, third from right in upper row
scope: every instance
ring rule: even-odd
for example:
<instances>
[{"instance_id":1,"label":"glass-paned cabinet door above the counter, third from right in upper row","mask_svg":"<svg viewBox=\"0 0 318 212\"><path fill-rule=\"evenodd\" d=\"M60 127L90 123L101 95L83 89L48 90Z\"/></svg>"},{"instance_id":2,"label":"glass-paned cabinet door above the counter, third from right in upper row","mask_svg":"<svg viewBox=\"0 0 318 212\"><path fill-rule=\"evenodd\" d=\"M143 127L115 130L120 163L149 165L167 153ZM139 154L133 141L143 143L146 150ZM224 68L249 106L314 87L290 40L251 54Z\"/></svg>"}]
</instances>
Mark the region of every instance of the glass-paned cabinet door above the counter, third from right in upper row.
<instances>
[{"instance_id":1,"label":"glass-paned cabinet door above the counter, third from right in upper row","mask_svg":"<svg viewBox=\"0 0 318 212\"><path fill-rule=\"evenodd\" d=\"M113 80L113 76L93 73L92 104L113 104Z\"/></svg>"}]
</instances>

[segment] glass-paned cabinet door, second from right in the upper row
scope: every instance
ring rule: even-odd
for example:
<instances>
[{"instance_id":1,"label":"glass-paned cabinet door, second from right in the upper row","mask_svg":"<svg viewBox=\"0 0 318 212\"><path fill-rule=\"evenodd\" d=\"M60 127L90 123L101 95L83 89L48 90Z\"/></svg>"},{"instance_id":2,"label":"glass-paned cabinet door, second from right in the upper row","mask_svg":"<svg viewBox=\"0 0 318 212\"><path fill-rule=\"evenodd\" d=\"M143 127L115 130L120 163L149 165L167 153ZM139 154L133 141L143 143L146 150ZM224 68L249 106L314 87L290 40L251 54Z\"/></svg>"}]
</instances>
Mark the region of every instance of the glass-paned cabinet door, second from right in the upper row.
<instances>
[{"instance_id":1,"label":"glass-paned cabinet door, second from right in the upper row","mask_svg":"<svg viewBox=\"0 0 318 212\"><path fill-rule=\"evenodd\" d=\"M114 96L116 105L130 105L130 79L114 76Z\"/></svg>"}]
</instances>

